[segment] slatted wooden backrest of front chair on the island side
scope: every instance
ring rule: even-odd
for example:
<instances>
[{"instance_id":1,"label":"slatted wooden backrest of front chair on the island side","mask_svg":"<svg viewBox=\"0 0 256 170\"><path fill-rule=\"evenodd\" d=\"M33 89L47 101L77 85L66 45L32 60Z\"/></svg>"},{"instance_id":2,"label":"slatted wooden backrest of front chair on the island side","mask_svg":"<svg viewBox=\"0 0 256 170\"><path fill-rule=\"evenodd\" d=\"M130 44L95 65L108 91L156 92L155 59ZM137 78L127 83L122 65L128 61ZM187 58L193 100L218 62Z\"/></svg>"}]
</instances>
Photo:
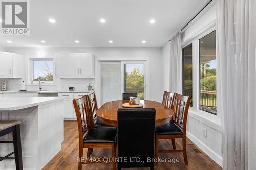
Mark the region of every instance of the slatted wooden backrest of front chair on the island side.
<instances>
[{"instance_id":1,"label":"slatted wooden backrest of front chair on the island side","mask_svg":"<svg viewBox=\"0 0 256 170\"><path fill-rule=\"evenodd\" d=\"M73 99L73 106L76 112L79 142L82 143L84 135L90 128L88 121L89 103L87 96L84 95L79 99Z\"/></svg>"}]
</instances>

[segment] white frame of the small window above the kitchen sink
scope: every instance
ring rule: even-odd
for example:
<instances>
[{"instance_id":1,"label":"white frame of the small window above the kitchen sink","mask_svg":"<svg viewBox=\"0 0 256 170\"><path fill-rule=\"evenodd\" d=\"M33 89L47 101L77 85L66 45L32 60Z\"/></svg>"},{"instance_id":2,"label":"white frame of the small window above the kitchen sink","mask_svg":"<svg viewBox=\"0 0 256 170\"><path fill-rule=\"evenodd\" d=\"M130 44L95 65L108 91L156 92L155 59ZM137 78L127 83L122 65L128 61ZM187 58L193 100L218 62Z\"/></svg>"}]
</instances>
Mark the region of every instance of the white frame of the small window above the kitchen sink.
<instances>
[{"instance_id":1,"label":"white frame of the small window above the kitchen sink","mask_svg":"<svg viewBox=\"0 0 256 170\"><path fill-rule=\"evenodd\" d=\"M27 85L30 85L30 86L39 85L38 81L34 81L33 83L31 83L31 81L34 78L34 61L53 61L53 67L54 67L53 58L29 58L29 77L28 77ZM43 85L56 85L55 74L53 74L53 81L41 81L41 86Z\"/></svg>"}]
</instances>

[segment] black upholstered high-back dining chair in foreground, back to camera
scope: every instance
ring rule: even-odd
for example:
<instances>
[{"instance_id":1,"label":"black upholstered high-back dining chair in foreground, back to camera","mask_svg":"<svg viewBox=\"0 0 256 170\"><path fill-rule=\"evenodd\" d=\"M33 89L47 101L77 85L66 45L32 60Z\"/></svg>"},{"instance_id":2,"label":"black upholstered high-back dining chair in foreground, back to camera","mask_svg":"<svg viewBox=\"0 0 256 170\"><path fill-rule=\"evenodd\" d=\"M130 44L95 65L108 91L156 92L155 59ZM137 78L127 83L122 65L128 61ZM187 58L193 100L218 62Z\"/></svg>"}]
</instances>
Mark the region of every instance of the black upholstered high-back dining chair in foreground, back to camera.
<instances>
[{"instance_id":1,"label":"black upholstered high-back dining chair in foreground, back to camera","mask_svg":"<svg viewBox=\"0 0 256 170\"><path fill-rule=\"evenodd\" d=\"M117 110L118 170L131 167L154 169L155 109ZM120 161L119 158L126 158ZM133 158L138 158L134 160ZM151 161L148 161L150 158Z\"/></svg>"}]
</instances>

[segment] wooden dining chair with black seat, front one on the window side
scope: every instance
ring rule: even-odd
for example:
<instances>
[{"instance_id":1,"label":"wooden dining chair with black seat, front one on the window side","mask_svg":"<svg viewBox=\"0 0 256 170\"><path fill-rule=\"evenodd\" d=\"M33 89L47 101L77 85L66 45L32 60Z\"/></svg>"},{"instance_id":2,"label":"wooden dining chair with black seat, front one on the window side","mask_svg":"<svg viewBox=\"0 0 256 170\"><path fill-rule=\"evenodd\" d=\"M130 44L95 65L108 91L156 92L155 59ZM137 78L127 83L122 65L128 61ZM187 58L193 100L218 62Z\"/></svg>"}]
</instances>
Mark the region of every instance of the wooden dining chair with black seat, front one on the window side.
<instances>
[{"instance_id":1,"label":"wooden dining chair with black seat, front one on the window side","mask_svg":"<svg viewBox=\"0 0 256 170\"><path fill-rule=\"evenodd\" d=\"M155 157L158 158L159 152L183 152L185 165L188 165L187 151L186 151L186 125L187 125L187 114L189 109L191 96L183 96L180 94L175 95L174 99L174 114L172 121L156 127L156 147ZM182 150L158 150L159 139L175 139L182 138ZM157 163L156 163L157 165Z\"/></svg>"}]
</instances>

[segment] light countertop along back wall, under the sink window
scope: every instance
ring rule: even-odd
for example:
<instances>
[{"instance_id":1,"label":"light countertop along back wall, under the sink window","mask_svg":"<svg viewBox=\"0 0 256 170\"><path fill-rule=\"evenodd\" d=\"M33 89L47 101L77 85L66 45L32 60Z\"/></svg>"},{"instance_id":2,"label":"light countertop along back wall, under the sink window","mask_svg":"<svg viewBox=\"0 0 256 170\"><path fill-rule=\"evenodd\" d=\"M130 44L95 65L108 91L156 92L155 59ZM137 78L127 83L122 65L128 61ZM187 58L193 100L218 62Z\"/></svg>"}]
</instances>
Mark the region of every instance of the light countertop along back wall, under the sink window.
<instances>
[{"instance_id":1,"label":"light countertop along back wall, under the sink window","mask_svg":"<svg viewBox=\"0 0 256 170\"><path fill-rule=\"evenodd\" d=\"M91 91L69 91L69 90L46 90L46 91L0 91L0 94L2 93L92 93L94 92L93 90Z\"/></svg>"}]
</instances>

